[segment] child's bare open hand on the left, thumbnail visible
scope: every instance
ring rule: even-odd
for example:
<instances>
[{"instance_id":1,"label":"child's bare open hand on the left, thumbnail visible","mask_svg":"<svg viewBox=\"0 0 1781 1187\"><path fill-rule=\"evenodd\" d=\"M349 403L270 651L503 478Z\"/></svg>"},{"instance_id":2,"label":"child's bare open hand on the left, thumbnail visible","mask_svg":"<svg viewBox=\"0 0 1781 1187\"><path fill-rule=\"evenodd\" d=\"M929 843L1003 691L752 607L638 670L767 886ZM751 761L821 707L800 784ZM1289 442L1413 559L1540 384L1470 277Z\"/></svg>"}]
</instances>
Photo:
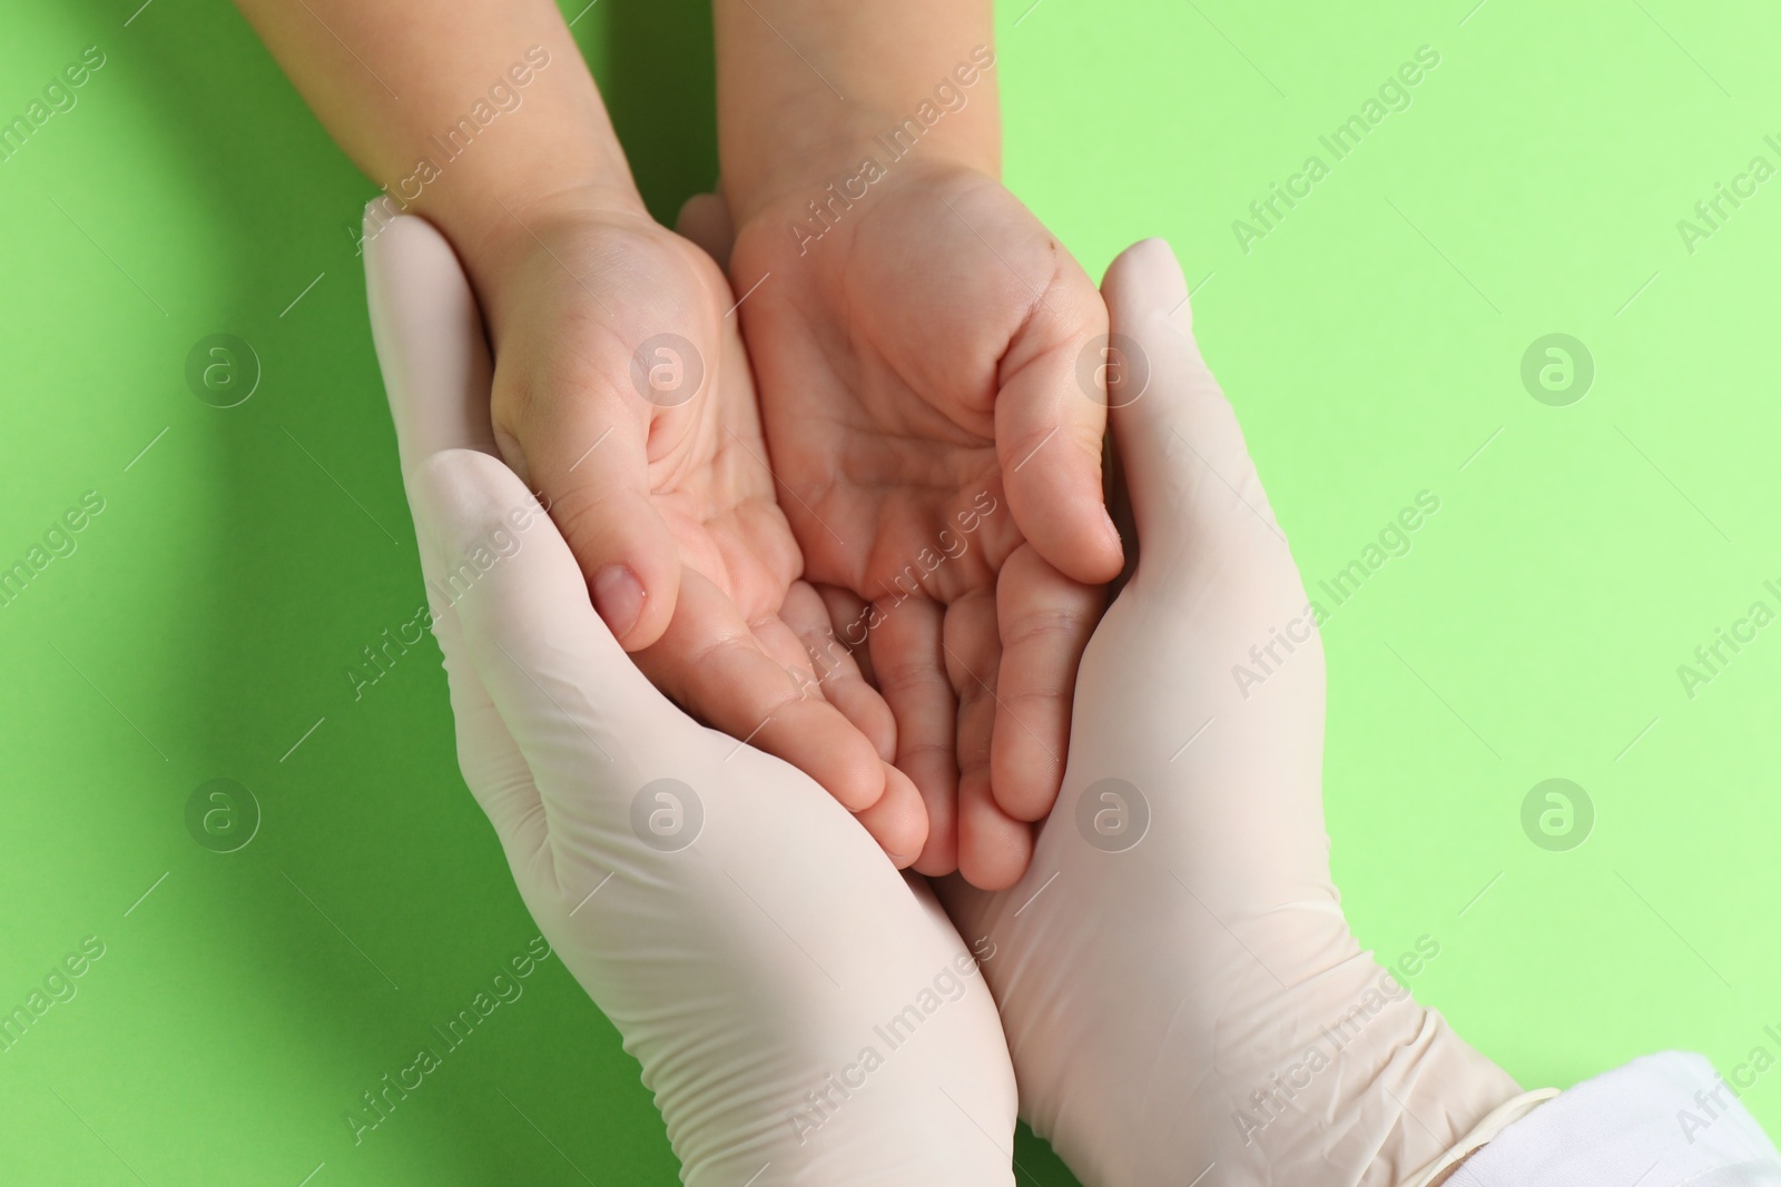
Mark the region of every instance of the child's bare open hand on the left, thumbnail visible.
<instances>
[{"instance_id":1,"label":"child's bare open hand on the left, thumbnail visible","mask_svg":"<svg viewBox=\"0 0 1781 1187\"><path fill-rule=\"evenodd\" d=\"M664 692L801 767L908 865L926 826L896 726L844 655L775 500L716 263L641 210L515 212L477 279L502 457L547 502L595 607Z\"/></svg>"}]
</instances>

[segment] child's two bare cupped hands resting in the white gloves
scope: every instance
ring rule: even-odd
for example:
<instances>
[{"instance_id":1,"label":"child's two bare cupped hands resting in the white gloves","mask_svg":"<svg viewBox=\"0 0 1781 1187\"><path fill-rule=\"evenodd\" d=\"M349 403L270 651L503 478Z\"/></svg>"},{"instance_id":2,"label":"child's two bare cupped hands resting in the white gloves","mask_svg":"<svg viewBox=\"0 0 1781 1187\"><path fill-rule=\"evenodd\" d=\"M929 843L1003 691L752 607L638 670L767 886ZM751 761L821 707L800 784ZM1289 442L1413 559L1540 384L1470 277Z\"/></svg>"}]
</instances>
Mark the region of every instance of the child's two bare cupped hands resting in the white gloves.
<instances>
[{"instance_id":1,"label":"child's two bare cupped hands resting in the white gloves","mask_svg":"<svg viewBox=\"0 0 1781 1187\"><path fill-rule=\"evenodd\" d=\"M981 173L899 162L821 237L800 199L506 221L495 441L657 689L899 868L1008 886L1120 571L1106 306Z\"/></svg>"}]
</instances>

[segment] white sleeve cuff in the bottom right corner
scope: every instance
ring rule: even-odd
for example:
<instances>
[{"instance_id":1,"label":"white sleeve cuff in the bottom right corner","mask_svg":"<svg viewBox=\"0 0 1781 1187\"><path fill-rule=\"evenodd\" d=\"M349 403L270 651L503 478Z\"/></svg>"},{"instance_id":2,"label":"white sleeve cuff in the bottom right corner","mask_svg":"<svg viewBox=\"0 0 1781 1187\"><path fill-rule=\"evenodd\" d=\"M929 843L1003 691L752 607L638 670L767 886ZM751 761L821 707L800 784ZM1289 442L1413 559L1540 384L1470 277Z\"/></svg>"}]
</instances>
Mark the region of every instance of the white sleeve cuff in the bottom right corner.
<instances>
[{"instance_id":1,"label":"white sleeve cuff in the bottom right corner","mask_svg":"<svg viewBox=\"0 0 1781 1187\"><path fill-rule=\"evenodd\" d=\"M1738 1093L1703 1055L1646 1055L1533 1109L1448 1187L1781 1187Z\"/></svg>"}]
</instances>

